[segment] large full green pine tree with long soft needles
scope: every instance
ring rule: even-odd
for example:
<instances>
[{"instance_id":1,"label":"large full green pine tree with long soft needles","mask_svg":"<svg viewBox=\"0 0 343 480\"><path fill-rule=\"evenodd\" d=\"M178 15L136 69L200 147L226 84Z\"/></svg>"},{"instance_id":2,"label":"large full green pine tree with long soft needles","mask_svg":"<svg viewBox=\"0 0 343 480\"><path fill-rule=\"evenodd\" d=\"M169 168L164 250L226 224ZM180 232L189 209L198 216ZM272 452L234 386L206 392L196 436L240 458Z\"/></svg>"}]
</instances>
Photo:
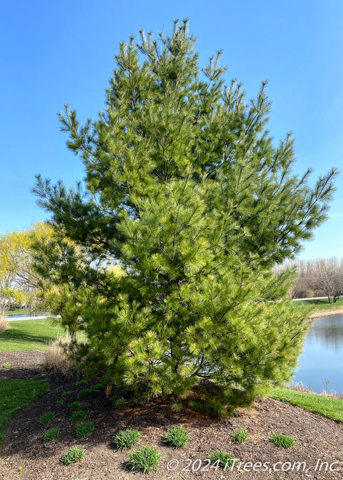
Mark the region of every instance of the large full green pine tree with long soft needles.
<instances>
[{"instance_id":1,"label":"large full green pine tree with long soft needles","mask_svg":"<svg viewBox=\"0 0 343 480\"><path fill-rule=\"evenodd\" d=\"M287 295L294 272L273 267L327 217L335 171L296 176L292 136L268 132L266 82L248 101L195 42L185 21L120 43L99 117L60 114L86 178L67 191L37 177L54 235L36 241L36 271L87 337L69 347L85 377L140 398L203 387L224 415L296 366L309 321Z\"/></svg>"}]
</instances>

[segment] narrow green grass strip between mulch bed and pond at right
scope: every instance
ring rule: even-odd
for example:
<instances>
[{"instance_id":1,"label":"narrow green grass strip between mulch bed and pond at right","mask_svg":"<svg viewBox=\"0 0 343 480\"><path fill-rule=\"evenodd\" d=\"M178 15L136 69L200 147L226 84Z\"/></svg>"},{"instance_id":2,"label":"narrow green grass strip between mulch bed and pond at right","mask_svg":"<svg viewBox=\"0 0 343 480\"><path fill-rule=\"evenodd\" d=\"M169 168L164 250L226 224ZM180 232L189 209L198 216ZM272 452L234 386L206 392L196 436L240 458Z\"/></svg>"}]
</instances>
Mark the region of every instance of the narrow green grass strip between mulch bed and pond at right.
<instances>
[{"instance_id":1,"label":"narrow green grass strip between mulch bed and pond at right","mask_svg":"<svg viewBox=\"0 0 343 480\"><path fill-rule=\"evenodd\" d=\"M343 399L298 392L292 388L274 388L272 398L343 422Z\"/></svg>"}]
</instances>

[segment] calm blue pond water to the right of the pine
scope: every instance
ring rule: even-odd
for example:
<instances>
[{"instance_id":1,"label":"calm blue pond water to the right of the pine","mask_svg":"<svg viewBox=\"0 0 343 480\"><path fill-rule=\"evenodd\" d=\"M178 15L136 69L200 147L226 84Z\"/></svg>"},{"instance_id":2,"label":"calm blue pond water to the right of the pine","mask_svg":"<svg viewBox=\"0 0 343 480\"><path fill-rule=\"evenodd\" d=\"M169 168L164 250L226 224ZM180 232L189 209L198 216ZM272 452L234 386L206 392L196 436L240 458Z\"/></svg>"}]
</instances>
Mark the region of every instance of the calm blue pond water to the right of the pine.
<instances>
[{"instance_id":1,"label":"calm blue pond water to the right of the pine","mask_svg":"<svg viewBox=\"0 0 343 480\"><path fill-rule=\"evenodd\" d=\"M316 393L343 393L343 315L320 317L307 334L294 382L308 385Z\"/></svg>"}]
</instances>

